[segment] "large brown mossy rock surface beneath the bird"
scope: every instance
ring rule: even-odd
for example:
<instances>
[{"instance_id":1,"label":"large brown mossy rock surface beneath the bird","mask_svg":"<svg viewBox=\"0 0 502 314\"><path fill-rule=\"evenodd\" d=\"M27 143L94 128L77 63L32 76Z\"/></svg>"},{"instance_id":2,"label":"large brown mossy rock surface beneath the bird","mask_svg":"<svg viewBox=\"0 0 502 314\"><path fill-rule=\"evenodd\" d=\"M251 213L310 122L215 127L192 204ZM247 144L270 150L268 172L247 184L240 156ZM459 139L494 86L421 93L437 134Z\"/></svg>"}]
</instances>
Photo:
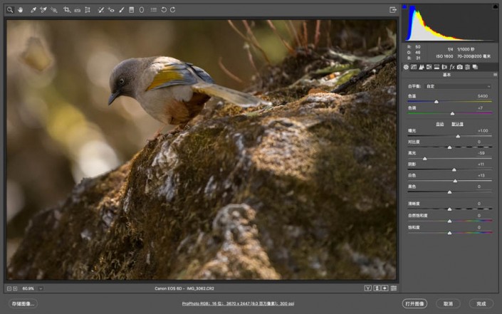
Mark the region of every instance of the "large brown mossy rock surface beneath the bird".
<instances>
[{"instance_id":1,"label":"large brown mossy rock surface beneath the bird","mask_svg":"<svg viewBox=\"0 0 502 314\"><path fill-rule=\"evenodd\" d=\"M33 218L8 278L395 278L396 91L379 74L148 142Z\"/></svg>"}]
</instances>

